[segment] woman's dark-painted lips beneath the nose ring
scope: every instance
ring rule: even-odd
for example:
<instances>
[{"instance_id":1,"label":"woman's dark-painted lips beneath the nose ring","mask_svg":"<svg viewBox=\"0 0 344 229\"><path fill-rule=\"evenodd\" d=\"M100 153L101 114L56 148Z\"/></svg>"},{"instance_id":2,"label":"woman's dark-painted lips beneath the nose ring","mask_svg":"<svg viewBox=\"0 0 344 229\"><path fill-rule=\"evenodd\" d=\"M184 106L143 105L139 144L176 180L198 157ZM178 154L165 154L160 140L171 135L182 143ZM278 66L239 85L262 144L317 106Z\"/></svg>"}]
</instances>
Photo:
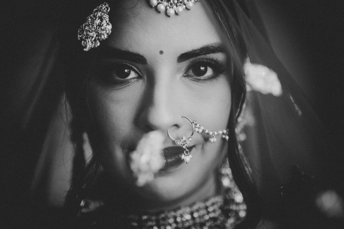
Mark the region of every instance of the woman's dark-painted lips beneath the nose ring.
<instances>
[{"instance_id":1,"label":"woman's dark-painted lips beneath the nose ring","mask_svg":"<svg viewBox=\"0 0 344 229\"><path fill-rule=\"evenodd\" d=\"M193 147L194 146L188 147L188 149L191 151ZM184 150L185 149L180 146L170 146L164 148L162 151L165 157L165 164L160 171L167 171L179 167L184 162L181 158Z\"/></svg>"}]
</instances>

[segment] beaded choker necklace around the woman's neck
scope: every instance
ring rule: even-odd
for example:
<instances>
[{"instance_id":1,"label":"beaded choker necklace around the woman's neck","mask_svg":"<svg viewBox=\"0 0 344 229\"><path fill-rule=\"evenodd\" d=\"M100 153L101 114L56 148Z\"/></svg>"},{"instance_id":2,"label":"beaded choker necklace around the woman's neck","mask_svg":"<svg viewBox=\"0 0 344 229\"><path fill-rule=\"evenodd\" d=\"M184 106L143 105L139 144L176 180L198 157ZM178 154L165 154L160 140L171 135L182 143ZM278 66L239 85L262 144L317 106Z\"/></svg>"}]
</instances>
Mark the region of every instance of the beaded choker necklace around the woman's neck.
<instances>
[{"instance_id":1,"label":"beaded choker necklace around the woman's neck","mask_svg":"<svg viewBox=\"0 0 344 229\"><path fill-rule=\"evenodd\" d=\"M234 228L246 215L246 204L241 193L226 190L225 195L214 196L204 202L183 206L154 215L130 215L131 228Z\"/></svg>"}]
</instances>

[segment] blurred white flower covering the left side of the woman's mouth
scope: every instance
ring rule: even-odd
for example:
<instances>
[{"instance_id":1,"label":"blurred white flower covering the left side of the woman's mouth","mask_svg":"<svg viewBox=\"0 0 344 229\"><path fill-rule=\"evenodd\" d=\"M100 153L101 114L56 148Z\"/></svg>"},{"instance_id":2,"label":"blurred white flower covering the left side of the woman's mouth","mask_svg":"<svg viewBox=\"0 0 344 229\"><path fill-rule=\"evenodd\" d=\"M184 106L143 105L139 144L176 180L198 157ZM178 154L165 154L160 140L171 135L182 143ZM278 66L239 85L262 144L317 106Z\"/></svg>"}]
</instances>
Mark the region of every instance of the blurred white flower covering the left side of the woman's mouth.
<instances>
[{"instance_id":1,"label":"blurred white flower covering the left side of the woman's mouth","mask_svg":"<svg viewBox=\"0 0 344 229\"><path fill-rule=\"evenodd\" d=\"M154 173L164 165L162 152L165 137L159 131L152 131L144 135L137 148L130 154L130 168L137 178L136 184L143 186L154 179Z\"/></svg>"}]
</instances>

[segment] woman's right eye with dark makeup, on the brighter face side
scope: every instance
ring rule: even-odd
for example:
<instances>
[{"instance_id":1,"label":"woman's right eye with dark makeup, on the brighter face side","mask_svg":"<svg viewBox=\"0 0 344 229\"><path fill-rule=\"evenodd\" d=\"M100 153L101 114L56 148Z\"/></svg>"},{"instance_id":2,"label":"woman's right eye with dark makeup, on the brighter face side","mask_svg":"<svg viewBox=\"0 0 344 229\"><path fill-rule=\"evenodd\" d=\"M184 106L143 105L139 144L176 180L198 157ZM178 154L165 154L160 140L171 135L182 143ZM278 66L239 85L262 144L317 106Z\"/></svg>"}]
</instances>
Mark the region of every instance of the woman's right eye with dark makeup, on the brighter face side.
<instances>
[{"instance_id":1,"label":"woman's right eye with dark makeup, on the brighter face side","mask_svg":"<svg viewBox=\"0 0 344 229\"><path fill-rule=\"evenodd\" d=\"M183 76L191 77L196 80L209 80L216 78L223 72L221 64L214 60L197 60L192 62Z\"/></svg>"}]
</instances>

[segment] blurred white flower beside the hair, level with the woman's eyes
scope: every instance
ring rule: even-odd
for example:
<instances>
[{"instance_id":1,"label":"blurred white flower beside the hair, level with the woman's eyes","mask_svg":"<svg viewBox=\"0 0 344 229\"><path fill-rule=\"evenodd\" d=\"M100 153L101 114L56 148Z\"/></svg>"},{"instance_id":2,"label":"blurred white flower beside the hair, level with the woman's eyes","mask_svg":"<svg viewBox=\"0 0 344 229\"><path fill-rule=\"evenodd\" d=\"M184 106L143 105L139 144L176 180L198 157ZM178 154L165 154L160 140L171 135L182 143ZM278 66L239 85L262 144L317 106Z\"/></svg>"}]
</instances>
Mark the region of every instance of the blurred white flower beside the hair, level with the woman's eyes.
<instances>
[{"instance_id":1,"label":"blurred white flower beside the hair, level with the woman's eyes","mask_svg":"<svg viewBox=\"0 0 344 229\"><path fill-rule=\"evenodd\" d=\"M259 64L252 64L247 58L244 64L247 90L258 91L262 94L282 95L282 86L277 73L272 69Z\"/></svg>"}]
</instances>

